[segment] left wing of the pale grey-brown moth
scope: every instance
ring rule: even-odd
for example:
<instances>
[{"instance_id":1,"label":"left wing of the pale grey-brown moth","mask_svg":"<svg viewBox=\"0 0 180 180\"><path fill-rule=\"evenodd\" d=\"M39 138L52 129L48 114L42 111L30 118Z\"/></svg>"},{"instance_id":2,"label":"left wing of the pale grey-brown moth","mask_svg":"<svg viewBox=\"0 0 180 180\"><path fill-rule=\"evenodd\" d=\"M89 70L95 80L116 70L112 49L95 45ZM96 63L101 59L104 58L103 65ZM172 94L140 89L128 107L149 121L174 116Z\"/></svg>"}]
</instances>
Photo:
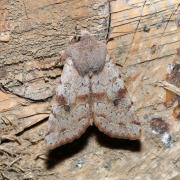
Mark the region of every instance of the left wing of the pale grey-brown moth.
<instances>
[{"instance_id":1,"label":"left wing of the pale grey-brown moth","mask_svg":"<svg viewBox=\"0 0 180 180\"><path fill-rule=\"evenodd\" d=\"M45 140L50 148L70 143L86 131L90 125L89 104L83 97L87 94L88 77L81 77L72 60L66 59L48 120Z\"/></svg>"}]
</instances>

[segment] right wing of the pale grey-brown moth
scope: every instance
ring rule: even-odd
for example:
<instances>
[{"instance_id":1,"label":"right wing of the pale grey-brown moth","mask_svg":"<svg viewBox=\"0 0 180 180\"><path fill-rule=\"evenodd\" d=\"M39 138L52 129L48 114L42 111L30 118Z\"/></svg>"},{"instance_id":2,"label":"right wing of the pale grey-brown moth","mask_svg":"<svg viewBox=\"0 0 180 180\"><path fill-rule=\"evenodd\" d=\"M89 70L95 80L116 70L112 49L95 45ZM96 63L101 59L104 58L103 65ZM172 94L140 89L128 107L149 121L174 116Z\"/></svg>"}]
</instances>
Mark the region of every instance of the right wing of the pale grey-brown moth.
<instances>
[{"instance_id":1,"label":"right wing of the pale grey-brown moth","mask_svg":"<svg viewBox=\"0 0 180 180\"><path fill-rule=\"evenodd\" d=\"M94 124L98 129L113 138L139 139L140 122L118 67L112 61L106 62L104 69L93 76L91 83L95 94Z\"/></svg>"}]
</instances>

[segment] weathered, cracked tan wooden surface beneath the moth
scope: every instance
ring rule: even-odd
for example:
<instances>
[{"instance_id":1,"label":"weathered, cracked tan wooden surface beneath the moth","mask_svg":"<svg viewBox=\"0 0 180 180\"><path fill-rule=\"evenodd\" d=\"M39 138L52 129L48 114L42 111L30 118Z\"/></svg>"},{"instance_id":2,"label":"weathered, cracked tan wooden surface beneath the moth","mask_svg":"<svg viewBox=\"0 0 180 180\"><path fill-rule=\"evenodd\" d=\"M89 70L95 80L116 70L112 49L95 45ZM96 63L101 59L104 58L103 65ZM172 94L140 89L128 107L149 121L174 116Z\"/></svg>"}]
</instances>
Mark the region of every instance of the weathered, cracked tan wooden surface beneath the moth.
<instances>
[{"instance_id":1,"label":"weathered, cracked tan wooden surface beneath the moth","mask_svg":"<svg viewBox=\"0 0 180 180\"><path fill-rule=\"evenodd\" d=\"M46 149L60 52L80 29L107 40L142 123L141 143L92 127ZM178 0L1 0L0 179L180 179L177 102L167 106L159 85L180 61L178 48Z\"/></svg>"}]
</instances>

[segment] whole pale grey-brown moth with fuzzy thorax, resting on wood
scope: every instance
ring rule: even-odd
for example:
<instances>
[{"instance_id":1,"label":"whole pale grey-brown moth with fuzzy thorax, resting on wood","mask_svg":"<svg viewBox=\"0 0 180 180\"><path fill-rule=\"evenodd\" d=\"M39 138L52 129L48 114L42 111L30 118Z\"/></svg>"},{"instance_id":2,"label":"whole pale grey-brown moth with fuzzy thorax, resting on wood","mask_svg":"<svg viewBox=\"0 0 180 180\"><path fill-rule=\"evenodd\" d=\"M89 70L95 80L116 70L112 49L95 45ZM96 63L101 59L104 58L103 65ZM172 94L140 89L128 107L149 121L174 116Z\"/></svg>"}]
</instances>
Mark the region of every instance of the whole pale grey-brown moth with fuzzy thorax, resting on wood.
<instances>
[{"instance_id":1,"label":"whole pale grey-brown moth with fuzzy thorax, resting on wood","mask_svg":"<svg viewBox=\"0 0 180 180\"><path fill-rule=\"evenodd\" d=\"M45 137L49 147L78 139L92 125L112 138L139 139L140 122L106 44L84 32L65 54Z\"/></svg>"}]
</instances>

